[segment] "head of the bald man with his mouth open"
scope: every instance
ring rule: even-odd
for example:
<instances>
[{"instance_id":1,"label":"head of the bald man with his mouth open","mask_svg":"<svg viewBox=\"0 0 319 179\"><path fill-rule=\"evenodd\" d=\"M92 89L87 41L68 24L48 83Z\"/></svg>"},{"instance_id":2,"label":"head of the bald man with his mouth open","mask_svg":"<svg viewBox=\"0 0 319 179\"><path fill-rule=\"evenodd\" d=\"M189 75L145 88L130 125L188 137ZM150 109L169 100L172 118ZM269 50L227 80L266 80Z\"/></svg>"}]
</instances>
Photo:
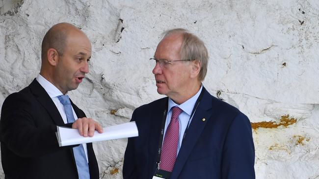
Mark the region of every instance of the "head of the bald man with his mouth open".
<instances>
[{"instance_id":1,"label":"head of the bald man with his mouth open","mask_svg":"<svg viewBox=\"0 0 319 179\"><path fill-rule=\"evenodd\" d=\"M42 41L40 75L63 94L75 90L89 72L91 42L70 23L53 25Z\"/></svg>"}]
</instances>

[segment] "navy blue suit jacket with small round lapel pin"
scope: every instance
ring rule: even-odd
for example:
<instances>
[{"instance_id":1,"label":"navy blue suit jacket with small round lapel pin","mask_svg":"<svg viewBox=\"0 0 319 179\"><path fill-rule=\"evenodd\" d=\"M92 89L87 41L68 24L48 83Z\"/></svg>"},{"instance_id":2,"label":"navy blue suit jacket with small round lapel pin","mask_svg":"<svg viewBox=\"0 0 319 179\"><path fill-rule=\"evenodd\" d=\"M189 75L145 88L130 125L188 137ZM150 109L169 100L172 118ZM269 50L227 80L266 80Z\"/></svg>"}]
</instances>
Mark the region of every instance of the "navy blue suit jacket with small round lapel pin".
<instances>
[{"instance_id":1,"label":"navy blue suit jacket with small round lapel pin","mask_svg":"<svg viewBox=\"0 0 319 179\"><path fill-rule=\"evenodd\" d=\"M255 179L255 149L248 118L203 90L171 179ZM124 179L152 179L167 105L166 97L133 112L132 121L136 122L139 136L128 140Z\"/></svg>"}]
</instances>

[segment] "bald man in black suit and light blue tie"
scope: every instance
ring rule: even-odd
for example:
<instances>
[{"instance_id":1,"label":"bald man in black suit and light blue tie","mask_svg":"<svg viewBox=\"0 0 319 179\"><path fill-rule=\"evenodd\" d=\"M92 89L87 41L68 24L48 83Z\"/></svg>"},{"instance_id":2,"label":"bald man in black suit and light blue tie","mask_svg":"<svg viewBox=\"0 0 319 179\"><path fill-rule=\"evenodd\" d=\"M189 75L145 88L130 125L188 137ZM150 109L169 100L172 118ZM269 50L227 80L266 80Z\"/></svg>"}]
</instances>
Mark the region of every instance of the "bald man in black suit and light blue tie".
<instances>
[{"instance_id":1,"label":"bald man in black suit and light blue tie","mask_svg":"<svg viewBox=\"0 0 319 179\"><path fill-rule=\"evenodd\" d=\"M98 179L92 143L59 147L56 126L93 136L102 127L70 101L89 72L91 43L70 23L53 25L42 42L39 75L10 94L0 119L1 162L5 179Z\"/></svg>"}]
</instances>

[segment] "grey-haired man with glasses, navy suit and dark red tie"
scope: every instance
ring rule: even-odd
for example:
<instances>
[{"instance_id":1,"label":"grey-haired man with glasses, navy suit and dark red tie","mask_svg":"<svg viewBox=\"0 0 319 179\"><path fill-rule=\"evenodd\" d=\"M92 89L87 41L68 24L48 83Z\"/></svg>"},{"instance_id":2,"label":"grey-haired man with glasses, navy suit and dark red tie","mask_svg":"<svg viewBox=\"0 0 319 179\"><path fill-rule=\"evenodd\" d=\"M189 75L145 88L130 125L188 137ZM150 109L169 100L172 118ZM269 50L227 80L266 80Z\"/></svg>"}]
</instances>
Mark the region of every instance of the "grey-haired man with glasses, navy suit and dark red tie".
<instances>
[{"instance_id":1,"label":"grey-haired man with glasses, navy suit and dark red tie","mask_svg":"<svg viewBox=\"0 0 319 179\"><path fill-rule=\"evenodd\" d=\"M185 29L165 32L153 74L167 97L137 108L139 136L129 138L124 179L254 179L249 119L202 85L204 43Z\"/></svg>"}]
</instances>

